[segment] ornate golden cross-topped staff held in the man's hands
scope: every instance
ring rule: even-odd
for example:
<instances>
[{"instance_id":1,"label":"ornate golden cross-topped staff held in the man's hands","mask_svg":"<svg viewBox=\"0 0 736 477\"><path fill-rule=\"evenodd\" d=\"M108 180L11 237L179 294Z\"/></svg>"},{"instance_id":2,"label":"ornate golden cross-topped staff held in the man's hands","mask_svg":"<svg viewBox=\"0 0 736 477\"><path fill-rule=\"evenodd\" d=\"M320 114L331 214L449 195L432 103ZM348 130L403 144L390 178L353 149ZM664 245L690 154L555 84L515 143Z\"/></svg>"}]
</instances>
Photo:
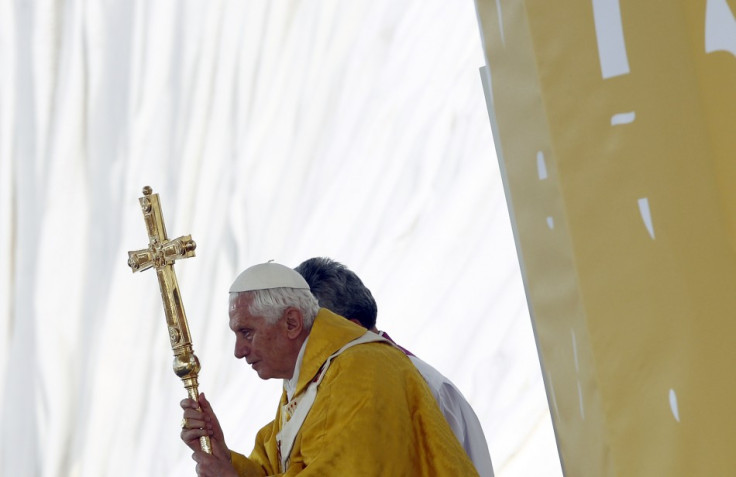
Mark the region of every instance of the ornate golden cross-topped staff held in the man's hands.
<instances>
[{"instance_id":1,"label":"ornate golden cross-topped staff held in the man's hands","mask_svg":"<svg viewBox=\"0 0 736 477\"><path fill-rule=\"evenodd\" d=\"M174 273L174 261L193 257L197 244L194 243L191 235L184 235L174 240L168 239L158 194L154 194L149 186L143 188L143 197L138 198L138 201L141 204L143 219L148 231L148 248L128 252L128 266L133 269L134 273L151 267L156 268L161 300L166 313L166 324L169 327L169 340L174 352L174 373L181 378L189 397L197 402L199 359L192 349L192 337L189 335L189 325L184 314L176 273ZM199 443L204 452L212 453L208 436L200 437Z\"/></svg>"}]
</instances>

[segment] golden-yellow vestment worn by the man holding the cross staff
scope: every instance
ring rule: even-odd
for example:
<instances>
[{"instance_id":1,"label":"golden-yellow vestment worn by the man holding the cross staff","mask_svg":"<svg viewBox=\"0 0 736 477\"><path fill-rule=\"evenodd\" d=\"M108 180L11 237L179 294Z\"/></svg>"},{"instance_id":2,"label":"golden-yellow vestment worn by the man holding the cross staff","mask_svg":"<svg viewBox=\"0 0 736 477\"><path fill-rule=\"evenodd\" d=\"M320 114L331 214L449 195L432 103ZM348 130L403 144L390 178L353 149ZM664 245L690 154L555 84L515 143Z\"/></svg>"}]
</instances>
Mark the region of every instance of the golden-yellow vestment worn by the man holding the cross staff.
<instances>
[{"instance_id":1,"label":"golden-yellow vestment worn by the man holding the cross staff","mask_svg":"<svg viewBox=\"0 0 736 477\"><path fill-rule=\"evenodd\" d=\"M330 355L365 332L320 309L295 399ZM286 404L284 392L276 419L258 432L249 458L232 453L238 475L477 475L422 376L404 353L387 343L355 345L332 360L283 472L277 434Z\"/></svg>"}]
</instances>

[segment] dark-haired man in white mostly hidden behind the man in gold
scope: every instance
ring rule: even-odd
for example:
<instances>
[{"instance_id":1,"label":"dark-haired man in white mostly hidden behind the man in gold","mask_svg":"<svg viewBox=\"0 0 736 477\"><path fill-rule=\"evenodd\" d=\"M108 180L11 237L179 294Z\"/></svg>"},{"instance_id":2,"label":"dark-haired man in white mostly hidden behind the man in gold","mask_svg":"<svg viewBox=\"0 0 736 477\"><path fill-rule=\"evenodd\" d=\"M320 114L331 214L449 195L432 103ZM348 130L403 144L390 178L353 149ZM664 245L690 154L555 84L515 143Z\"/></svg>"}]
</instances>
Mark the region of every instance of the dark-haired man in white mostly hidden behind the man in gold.
<instances>
[{"instance_id":1,"label":"dark-haired man in white mostly hidden behind the man in gold","mask_svg":"<svg viewBox=\"0 0 736 477\"><path fill-rule=\"evenodd\" d=\"M309 283L321 307L391 340L386 333L376 328L376 300L352 270L325 257L305 260L295 270ZM488 444L473 408L449 379L409 351L401 349L427 381L442 413L478 473L482 477L492 477L493 465Z\"/></svg>"}]
</instances>

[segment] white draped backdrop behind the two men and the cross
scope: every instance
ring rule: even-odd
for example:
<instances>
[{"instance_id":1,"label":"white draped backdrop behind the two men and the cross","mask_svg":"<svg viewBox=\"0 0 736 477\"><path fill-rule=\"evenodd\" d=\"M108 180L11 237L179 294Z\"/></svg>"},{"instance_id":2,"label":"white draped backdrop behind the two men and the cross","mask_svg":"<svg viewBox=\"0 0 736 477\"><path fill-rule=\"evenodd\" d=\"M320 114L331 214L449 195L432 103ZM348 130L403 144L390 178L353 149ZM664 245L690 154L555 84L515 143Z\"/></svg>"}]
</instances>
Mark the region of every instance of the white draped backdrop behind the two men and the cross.
<instances>
[{"instance_id":1,"label":"white draped backdrop behind the two men and the cross","mask_svg":"<svg viewBox=\"0 0 736 477\"><path fill-rule=\"evenodd\" d=\"M200 389L249 453L245 267L322 255L464 392L501 477L560 475L471 0L0 0L0 474L194 475L138 197L161 194Z\"/></svg>"}]
</instances>

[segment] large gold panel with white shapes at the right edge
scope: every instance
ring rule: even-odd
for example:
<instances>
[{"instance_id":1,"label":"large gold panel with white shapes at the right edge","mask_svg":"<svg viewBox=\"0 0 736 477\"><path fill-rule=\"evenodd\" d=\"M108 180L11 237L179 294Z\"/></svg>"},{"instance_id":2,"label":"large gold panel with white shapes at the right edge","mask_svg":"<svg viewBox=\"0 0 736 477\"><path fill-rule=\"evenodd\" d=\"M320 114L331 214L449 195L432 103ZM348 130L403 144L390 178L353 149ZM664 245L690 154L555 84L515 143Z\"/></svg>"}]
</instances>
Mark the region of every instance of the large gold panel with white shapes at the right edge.
<instances>
[{"instance_id":1,"label":"large gold panel with white shapes at the right edge","mask_svg":"<svg viewBox=\"0 0 736 477\"><path fill-rule=\"evenodd\" d=\"M565 475L735 476L736 0L476 0Z\"/></svg>"}]
</instances>

